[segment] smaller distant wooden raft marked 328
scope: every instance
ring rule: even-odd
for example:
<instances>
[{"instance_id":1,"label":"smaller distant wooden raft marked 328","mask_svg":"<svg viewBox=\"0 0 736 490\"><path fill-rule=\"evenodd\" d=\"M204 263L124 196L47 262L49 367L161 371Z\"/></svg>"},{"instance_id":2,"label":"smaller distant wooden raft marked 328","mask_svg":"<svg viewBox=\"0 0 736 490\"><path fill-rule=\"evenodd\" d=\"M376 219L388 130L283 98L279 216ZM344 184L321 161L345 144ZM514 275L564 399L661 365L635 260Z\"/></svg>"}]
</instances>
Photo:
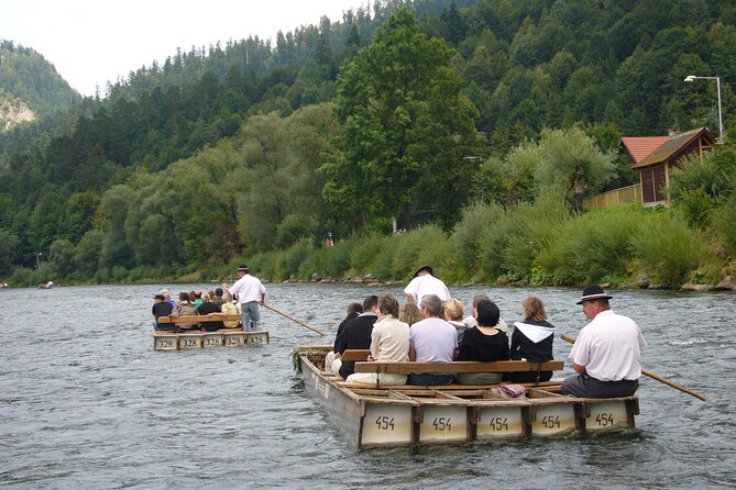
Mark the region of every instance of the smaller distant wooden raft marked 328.
<instances>
[{"instance_id":1,"label":"smaller distant wooden raft marked 328","mask_svg":"<svg viewBox=\"0 0 736 490\"><path fill-rule=\"evenodd\" d=\"M160 324L176 323L207 323L222 322L227 320L240 320L239 314L220 316L160 316ZM200 332L197 330L173 333L157 330L153 332L154 350L185 350L191 348L209 347L240 347L243 345L261 345L268 343L268 331L243 332L238 328L221 328L215 332Z\"/></svg>"}]
</instances>

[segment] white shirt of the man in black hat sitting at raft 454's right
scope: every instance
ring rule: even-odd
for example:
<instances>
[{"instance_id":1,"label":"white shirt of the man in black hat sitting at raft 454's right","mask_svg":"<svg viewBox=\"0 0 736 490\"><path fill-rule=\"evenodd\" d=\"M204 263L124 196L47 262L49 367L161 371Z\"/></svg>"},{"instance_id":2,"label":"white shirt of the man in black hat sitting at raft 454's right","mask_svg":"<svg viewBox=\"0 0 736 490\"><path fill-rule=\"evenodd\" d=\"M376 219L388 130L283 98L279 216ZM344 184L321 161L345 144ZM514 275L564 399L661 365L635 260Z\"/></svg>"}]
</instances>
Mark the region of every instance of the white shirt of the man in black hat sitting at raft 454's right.
<instances>
[{"instance_id":1,"label":"white shirt of the man in black hat sitting at raft 454's right","mask_svg":"<svg viewBox=\"0 0 736 490\"><path fill-rule=\"evenodd\" d=\"M634 320L605 310L580 331L570 359L600 381L633 381L641 377L641 349L646 345Z\"/></svg>"}]
</instances>

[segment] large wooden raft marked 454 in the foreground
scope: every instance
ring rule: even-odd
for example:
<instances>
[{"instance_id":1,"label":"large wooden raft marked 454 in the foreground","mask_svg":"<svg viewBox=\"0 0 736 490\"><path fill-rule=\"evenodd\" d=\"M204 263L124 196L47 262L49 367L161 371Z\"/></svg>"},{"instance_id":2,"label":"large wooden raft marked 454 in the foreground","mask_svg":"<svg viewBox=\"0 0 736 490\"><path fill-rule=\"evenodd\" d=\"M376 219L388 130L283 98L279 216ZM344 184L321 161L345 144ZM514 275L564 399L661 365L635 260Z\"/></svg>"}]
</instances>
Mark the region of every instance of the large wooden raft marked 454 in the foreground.
<instances>
[{"instance_id":1,"label":"large wooden raft marked 454 in the foreground","mask_svg":"<svg viewBox=\"0 0 736 490\"><path fill-rule=\"evenodd\" d=\"M521 383L521 398L501 397L497 385L382 387L348 383L322 370L329 346L299 347L307 391L360 448L461 443L524 436L596 433L635 426L637 397L582 399L560 393L559 381ZM343 356L344 358L345 356ZM365 359L347 353L345 360ZM431 364L432 366L427 366ZM355 363L359 372L510 372L560 370L563 361Z\"/></svg>"}]
</instances>

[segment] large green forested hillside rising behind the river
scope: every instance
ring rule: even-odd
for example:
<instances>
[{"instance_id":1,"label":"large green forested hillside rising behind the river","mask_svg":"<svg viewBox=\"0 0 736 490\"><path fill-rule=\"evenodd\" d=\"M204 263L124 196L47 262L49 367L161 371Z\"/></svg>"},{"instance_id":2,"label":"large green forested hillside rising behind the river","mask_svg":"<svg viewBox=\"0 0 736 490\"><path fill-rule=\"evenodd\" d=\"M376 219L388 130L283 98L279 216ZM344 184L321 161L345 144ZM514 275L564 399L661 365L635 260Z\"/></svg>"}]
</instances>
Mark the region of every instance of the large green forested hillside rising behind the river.
<instances>
[{"instance_id":1,"label":"large green forested hillside rising behind the river","mask_svg":"<svg viewBox=\"0 0 736 490\"><path fill-rule=\"evenodd\" d=\"M77 280L168 274L393 219L451 229L471 200L532 199L501 160L546 127L604 152L717 127L714 83L686 75L722 77L733 126L734 24L730 0L391 0L179 51L0 134L0 277L39 257Z\"/></svg>"}]
</instances>

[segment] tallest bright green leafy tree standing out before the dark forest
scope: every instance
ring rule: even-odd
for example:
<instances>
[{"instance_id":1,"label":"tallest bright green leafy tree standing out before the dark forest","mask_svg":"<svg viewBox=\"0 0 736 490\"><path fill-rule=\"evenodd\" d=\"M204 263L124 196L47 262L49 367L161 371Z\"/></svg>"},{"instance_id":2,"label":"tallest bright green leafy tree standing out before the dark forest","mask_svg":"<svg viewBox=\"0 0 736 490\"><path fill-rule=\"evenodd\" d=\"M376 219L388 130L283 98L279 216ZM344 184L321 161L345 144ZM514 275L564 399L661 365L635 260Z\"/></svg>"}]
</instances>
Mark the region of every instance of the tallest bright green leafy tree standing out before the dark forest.
<instances>
[{"instance_id":1,"label":"tallest bright green leafy tree standing out before the dark forest","mask_svg":"<svg viewBox=\"0 0 736 490\"><path fill-rule=\"evenodd\" d=\"M341 154L322 166L328 178L323 196L336 209L359 213L363 226L395 219L411 202L428 166L417 149L436 147L432 132L420 125L449 134L450 125L457 131L468 118L472 121L472 103L458 94L450 57L450 48L440 40L427 40L414 15L402 8L341 71L336 105L344 132L338 140ZM437 100L430 101L440 93L449 104L464 105L446 107L452 114L444 121L438 119ZM458 140L475 145L465 133ZM462 162L463 148L458 149L447 164Z\"/></svg>"}]
</instances>

